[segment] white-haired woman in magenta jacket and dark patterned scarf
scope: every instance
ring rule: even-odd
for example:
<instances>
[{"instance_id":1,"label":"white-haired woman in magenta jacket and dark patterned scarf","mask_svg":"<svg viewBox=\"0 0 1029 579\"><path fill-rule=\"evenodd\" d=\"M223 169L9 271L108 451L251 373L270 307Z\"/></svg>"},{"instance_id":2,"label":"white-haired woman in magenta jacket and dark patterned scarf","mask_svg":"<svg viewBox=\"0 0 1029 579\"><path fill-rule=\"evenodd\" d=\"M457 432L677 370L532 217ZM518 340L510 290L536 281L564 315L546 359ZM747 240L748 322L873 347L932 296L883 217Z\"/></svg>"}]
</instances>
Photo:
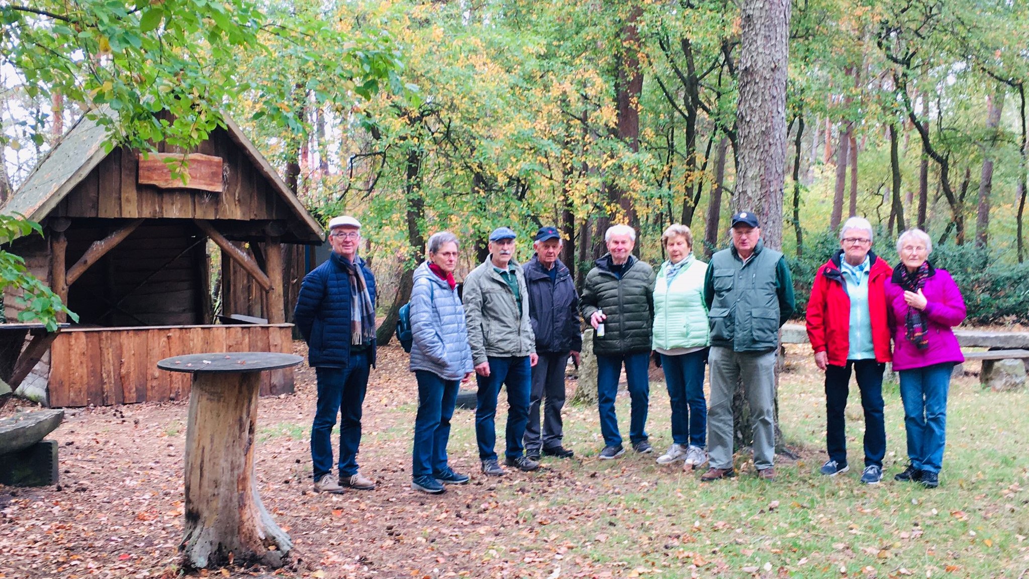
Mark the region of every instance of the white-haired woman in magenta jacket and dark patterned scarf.
<instances>
[{"instance_id":1,"label":"white-haired woman in magenta jacket and dark patterned scarf","mask_svg":"<svg viewBox=\"0 0 1029 579\"><path fill-rule=\"evenodd\" d=\"M957 283L926 261L931 251L932 241L924 231L901 233L897 239L900 263L886 282L893 370L900 374L910 459L908 468L893 478L926 488L939 485L951 370L964 362L951 329L965 317Z\"/></svg>"}]
</instances>

